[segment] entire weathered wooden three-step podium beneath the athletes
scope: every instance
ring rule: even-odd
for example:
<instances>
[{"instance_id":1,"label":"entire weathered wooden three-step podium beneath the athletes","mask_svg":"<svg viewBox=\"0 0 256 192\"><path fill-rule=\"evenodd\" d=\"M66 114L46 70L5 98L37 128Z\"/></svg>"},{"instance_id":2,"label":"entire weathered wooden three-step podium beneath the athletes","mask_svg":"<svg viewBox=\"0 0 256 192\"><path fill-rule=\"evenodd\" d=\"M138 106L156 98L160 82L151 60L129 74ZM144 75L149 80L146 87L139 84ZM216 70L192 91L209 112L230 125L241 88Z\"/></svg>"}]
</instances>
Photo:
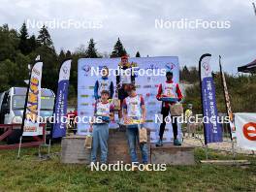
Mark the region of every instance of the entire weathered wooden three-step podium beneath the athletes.
<instances>
[{"instance_id":1,"label":"entire weathered wooden three-step podium beneath the athletes","mask_svg":"<svg viewBox=\"0 0 256 192\"><path fill-rule=\"evenodd\" d=\"M149 131L148 131L148 139ZM85 136L70 136L62 139L61 142L61 162L75 164L90 163L90 149L84 147ZM168 165L193 165L194 151L190 146L174 146L165 144L164 146L155 147L154 144L147 143L148 163L158 164L166 163ZM141 162L141 150L138 145L137 154ZM99 157L98 157L99 160ZM116 163L117 161L131 163L129 146L125 130L110 129L109 136L109 154L108 162Z\"/></svg>"}]
</instances>

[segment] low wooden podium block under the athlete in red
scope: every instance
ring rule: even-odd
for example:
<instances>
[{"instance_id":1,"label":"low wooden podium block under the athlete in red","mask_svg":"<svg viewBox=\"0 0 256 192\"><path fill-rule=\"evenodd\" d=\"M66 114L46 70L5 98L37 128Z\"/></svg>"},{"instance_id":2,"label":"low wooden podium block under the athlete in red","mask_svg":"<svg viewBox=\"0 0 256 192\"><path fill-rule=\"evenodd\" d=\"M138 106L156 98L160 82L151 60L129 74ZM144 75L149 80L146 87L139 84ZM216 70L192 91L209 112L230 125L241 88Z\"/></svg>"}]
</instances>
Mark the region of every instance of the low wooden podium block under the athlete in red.
<instances>
[{"instance_id":1,"label":"low wooden podium block under the athlete in red","mask_svg":"<svg viewBox=\"0 0 256 192\"><path fill-rule=\"evenodd\" d=\"M164 144L155 146L151 144L151 163L167 165L194 165L194 147L193 146L175 146L174 144Z\"/></svg>"}]
</instances>

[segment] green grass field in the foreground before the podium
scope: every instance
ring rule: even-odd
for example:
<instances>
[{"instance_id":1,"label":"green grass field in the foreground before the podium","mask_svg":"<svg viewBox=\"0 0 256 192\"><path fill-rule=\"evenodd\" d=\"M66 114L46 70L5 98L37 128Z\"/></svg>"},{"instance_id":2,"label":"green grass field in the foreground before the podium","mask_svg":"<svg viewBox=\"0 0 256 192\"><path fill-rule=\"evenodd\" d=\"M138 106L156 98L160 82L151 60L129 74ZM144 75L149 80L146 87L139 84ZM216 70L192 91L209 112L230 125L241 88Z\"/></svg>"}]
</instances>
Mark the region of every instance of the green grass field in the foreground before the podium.
<instances>
[{"instance_id":1,"label":"green grass field in the foreground before the podium","mask_svg":"<svg viewBox=\"0 0 256 192\"><path fill-rule=\"evenodd\" d=\"M54 144L51 152L60 151ZM59 156L40 161L36 148L0 151L0 191L255 191L256 158L240 155L251 165L170 166L165 172L91 172L84 165L61 164ZM205 159L195 150L197 162ZM210 151L211 159L231 155Z\"/></svg>"}]
</instances>

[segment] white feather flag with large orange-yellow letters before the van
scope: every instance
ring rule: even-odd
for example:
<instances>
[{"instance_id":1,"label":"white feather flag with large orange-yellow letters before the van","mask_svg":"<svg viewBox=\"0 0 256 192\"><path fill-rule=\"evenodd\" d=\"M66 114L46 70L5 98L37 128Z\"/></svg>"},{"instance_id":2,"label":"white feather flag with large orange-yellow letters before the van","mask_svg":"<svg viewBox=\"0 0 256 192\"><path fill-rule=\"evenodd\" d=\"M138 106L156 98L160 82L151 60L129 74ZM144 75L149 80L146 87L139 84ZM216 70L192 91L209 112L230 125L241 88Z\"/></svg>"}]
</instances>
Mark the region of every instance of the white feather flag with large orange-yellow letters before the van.
<instances>
[{"instance_id":1,"label":"white feather flag with large orange-yellow letters before the van","mask_svg":"<svg viewBox=\"0 0 256 192\"><path fill-rule=\"evenodd\" d=\"M36 62L31 70L22 119L22 136L42 135L38 116L41 109L41 80L43 62Z\"/></svg>"}]
</instances>

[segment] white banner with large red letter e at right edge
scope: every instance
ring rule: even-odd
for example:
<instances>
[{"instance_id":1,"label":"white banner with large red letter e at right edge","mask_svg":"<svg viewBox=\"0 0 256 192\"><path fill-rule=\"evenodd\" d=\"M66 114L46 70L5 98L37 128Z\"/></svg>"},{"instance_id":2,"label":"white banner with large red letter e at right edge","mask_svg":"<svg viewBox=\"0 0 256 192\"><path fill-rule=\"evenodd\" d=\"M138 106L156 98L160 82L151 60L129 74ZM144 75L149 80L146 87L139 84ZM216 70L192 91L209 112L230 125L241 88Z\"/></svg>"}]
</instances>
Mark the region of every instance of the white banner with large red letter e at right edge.
<instances>
[{"instance_id":1,"label":"white banner with large red letter e at right edge","mask_svg":"<svg viewBox=\"0 0 256 192\"><path fill-rule=\"evenodd\" d=\"M256 113L235 113L235 125L238 146L256 150Z\"/></svg>"}]
</instances>

